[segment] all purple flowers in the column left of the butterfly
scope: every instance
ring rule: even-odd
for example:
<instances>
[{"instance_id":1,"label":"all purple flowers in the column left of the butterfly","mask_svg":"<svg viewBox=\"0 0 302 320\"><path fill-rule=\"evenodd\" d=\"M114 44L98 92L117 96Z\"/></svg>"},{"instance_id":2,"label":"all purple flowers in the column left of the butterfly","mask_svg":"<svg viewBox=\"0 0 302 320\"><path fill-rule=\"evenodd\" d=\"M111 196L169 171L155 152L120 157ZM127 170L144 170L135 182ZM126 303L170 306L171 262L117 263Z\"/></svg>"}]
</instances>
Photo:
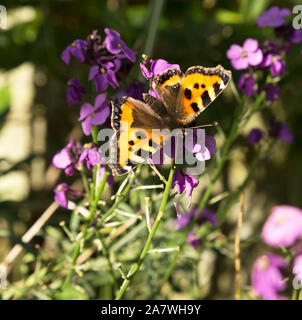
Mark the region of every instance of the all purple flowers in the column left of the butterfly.
<instances>
[{"instance_id":1,"label":"all purple flowers in the column left of the butterfly","mask_svg":"<svg viewBox=\"0 0 302 320\"><path fill-rule=\"evenodd\" d=\"M119 87L119 81L129 71L129 63L135 62L136 53L128 48L117 31L106 28L104 32L103 42L101 42L98 32L94 30L86 40L76 39L73 41L61 55L61 59L66 64L69 64L71 58L74 57L81 63L88 65L88 80L94 81L96 91L99 93L95 98L94 105L84 102L80 109L78 121L80 121L86 136L91 134L93 126L104 124L110 116L109 100L104 91L109 86ZM141 91L140 88L140 95L142 95ZM134 92L135 89L132 89L131 94L134 95ZM69 106L81 102L85 93L86 89L79 79L72 78L68 81L66 99ZM79 142L75 144L72 138L67 146L53 157L52 162L57 169L64 169L68 176L82 170L96 170L97 164L104 163L94 143L83 146ZM105 167L100 166L100 179L104 176L104 170ZM113 184L112 175L109 175L107 183ZM64 208L68 208L67 195L79 196L66 183L56 186L54 191L55 200Z\"/></svg>"}]
</instances>

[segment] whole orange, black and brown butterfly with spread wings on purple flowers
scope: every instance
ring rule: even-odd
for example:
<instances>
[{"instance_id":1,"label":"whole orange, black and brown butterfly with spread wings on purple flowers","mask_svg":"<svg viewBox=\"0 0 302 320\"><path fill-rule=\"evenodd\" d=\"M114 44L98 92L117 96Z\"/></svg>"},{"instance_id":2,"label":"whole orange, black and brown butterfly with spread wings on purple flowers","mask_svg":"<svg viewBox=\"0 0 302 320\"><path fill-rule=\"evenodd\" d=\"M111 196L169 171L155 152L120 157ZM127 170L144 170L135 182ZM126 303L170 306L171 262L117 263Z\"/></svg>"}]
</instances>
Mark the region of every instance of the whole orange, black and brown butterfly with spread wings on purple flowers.
<instances>
[{"instance_id":1,"label":"whole orange, black and brown butterfly with spread wings on purple flowers","mask_svg":"<svg viewBox=\"0 0 302 320\"><path fill-rule=\"evenodd\" d=\"M221 65L193 66L185 73L171 68L152 81L160 99L145 93L145 103L131 97L112 101L115 133L110 141L109 166L113 175L128 173L158 151L168 134L156 132L183 129L216 99L230 79L231 71Z\"/></svg>"}]
</instances>

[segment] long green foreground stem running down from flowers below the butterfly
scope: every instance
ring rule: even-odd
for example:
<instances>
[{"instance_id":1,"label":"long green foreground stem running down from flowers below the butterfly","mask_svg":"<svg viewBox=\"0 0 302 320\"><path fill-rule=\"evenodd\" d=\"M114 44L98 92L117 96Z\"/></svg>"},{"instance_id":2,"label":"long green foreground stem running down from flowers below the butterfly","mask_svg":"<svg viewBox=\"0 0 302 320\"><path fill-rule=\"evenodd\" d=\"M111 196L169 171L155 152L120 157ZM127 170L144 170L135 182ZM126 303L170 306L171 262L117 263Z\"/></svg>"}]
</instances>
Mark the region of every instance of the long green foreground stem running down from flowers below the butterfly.
<instances>
[{"instance_id":1,"label":"long green foreground stem running down from flowers below the butterfly","mask_svg":"<svg viewBox=\"0 0 302 320\"><path fill-rule=\"evenodd\" d=\"M133 277L135 276L137 271L140 269L140 267L141 267L146 255L148 253L149 247L151 245L151 240L152 240L152 238L153 238L153 236L154 236L154 234L155 234L155 232L156 232L156 230L157 230L157 228L159 226L159 223L160 223L160 221L162 219L162 216L164 214L164 210L165 210L165 207L166 207L166 204L167 204L169 192L170 192L171 185L172 185L172 178L173 178L174 171L175 171L175 167L174 167L174 164L172 164L172 168L170 170L169 178L168 178L168 181L167 181L167 184L166 184L166 188L165 188L165 191L164 191L163 199L162 199L160 208L158 210L154 225L153 225L153 227L151 229L151 232L149 233L149 236L148 236L147 241L145 243L144 249L141 252L138 261L130 268L130 270L128 272L128 275L127 275L127 279L125 279L123 281L122 286L120 287L120 290L119 290L119 292L118 292L118 294L116 296L116 300L120 300L123 297L123 295L124 295L126 289L128 288L131 280L133 279Z\"/></svg>"}]
</instances>

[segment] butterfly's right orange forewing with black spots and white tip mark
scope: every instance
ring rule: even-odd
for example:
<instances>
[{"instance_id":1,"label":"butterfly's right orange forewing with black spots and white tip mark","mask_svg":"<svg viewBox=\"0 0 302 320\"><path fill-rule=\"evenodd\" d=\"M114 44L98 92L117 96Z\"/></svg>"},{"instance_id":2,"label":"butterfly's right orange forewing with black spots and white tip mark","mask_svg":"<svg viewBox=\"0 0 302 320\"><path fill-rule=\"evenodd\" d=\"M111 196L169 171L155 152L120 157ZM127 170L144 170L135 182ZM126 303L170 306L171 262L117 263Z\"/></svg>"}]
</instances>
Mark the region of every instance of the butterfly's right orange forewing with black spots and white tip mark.
<instances>
[{"instance_id":1,"label":"butterfly's right orange forewing with black spots and white tip mark","mask_svg":"<svg viewBox=\"0 0 302 320\"><path fill-rule=\"evenodd\" d=\"M215 68L189 68L176 105L178 120L184 125L193 121L224 90L230 79L231 72L220 65Z\"/></svg>"}]
</instances>

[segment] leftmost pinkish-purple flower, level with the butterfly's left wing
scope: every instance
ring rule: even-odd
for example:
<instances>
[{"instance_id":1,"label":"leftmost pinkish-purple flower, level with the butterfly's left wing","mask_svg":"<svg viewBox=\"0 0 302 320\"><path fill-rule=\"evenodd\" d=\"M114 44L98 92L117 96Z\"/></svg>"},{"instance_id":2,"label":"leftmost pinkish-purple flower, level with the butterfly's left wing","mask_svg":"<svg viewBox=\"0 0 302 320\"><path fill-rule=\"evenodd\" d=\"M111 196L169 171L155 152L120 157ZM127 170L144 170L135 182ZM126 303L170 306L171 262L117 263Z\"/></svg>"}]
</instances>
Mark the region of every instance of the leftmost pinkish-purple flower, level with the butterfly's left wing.
<instances>
[{"instance_id":1,"label":"leftmost pinkish-purple flower, level with the butterfly's left wing","mask_svg":"<svg viewBox=\"0 0 302 320\"><path fill-rule=\"evenodd\" d=\"M57 169L64 169L66 175L72 176L78 169L78 160L82 150L81 143L74 144L72 137L70 137L67 146L54 155L52 159L53 166Z\"/></svg>"}]
</instances>

